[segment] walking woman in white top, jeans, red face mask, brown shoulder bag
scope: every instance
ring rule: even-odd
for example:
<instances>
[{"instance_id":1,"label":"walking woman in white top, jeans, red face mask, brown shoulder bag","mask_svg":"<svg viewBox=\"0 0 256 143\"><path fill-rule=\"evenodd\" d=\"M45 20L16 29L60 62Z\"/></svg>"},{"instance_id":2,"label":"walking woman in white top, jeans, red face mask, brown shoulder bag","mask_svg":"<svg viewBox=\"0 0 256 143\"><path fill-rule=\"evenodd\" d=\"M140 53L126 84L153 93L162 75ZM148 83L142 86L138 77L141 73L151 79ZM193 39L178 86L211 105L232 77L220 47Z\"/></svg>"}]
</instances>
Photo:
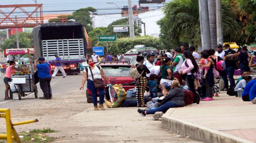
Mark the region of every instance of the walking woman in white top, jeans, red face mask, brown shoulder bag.
<instances>
[{"instance_id":1,"label":"walking woman in white top, jeans, red face mask, brown shoulder bag","mask_svg":"<svg viewBox=\"0 0 256 143\"><path fill-rule=\"evenodd\" d=\"M82 85L80 90L84 89L84 84L85 84L85 81L87 80L87 88L92 93L94 110L99 110L99 108L101 110L105 110L105 108L103 107L105 91L104 89L96 89L93 83L93 79L101 79L101 77L103 77L108 84L111 84L111 83L108 81L108 78L104 74L101 66L94 65L92 58L87 59L87 63L89 64L89 67L87 67L88 73L86 72L86 69L84 69L84 75L83 75L83 80L82 80ZM93 73L93 77L92 77L92 73ZM99 92L99 104L100 104L99 108L97 105L97 90Z\"/></svg>"}]
</instances>

